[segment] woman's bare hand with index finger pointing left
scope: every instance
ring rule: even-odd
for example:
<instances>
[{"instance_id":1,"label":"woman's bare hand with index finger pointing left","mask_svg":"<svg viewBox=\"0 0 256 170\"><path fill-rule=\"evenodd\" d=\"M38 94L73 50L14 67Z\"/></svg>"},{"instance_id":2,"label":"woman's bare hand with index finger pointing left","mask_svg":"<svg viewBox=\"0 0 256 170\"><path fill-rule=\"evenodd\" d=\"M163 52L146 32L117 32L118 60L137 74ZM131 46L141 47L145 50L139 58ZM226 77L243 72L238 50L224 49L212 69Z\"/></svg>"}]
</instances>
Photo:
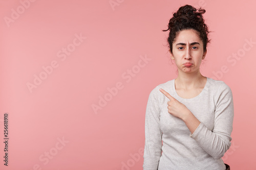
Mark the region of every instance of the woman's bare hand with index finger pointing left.
<instances>
[{"instance_id":1,"label":"woman's bare hand with index finger pointing left","mask_svg":"<svg viewBox=\"0 0 256 170\"><path fill-rule=\"evenodd\" d=\"M167 108L168 108L168 113L174 115L175 117L178 117L182 120L189 114L189 110L187 107L177 101L172 95L164 91L163 89L159 89L170 101L167 102Z\"/></svg>"}]
</instances>

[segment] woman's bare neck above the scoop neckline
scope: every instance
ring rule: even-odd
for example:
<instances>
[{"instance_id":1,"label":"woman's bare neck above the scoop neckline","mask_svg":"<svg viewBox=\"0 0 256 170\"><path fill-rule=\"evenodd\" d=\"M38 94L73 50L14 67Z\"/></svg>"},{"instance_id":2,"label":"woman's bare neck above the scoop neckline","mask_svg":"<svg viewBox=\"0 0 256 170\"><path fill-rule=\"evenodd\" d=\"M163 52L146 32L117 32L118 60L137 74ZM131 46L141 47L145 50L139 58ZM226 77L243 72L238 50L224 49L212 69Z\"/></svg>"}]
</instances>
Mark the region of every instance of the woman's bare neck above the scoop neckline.
<instances>
[{"instance_id":1,"label":"woman's bare neck above the scoop neckline","mask_svg":"<svg viewBox=\"0 0 256 170\"><path fill-rule=\"evenodd\" d=\"M202 86L202 82L206 77L202 76L200 71L187 74L185 72L179 72L178 77L175 79L175 84L179 88L192 89Z\"/></svg>"}]
</instances>

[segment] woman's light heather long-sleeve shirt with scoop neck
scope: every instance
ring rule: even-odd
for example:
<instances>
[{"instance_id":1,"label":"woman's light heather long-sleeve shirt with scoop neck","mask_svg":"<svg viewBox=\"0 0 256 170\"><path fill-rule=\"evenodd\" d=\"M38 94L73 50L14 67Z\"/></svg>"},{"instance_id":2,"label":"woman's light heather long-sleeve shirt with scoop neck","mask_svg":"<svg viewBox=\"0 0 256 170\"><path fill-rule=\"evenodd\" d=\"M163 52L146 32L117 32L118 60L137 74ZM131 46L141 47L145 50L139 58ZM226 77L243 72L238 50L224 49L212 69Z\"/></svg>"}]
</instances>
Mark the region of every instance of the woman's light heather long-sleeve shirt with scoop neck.
<instances>
[{"instance_id":1,"label":"woman's light heather long-sleeve shirt with scoop neck","mask_svg":"<svg viewBox=\"0 0 256 170\"><path fill-rule=\"evenodd\" d=\"M162 88L183 103L201 122L193 134L181 120L168 113L169 99ZM181 98L175 80L155 87L145 114L143 170L226 169L221 157L231 145L232 91L223 81L207 78L195 98Z\"/></svg>"}]
</instances>

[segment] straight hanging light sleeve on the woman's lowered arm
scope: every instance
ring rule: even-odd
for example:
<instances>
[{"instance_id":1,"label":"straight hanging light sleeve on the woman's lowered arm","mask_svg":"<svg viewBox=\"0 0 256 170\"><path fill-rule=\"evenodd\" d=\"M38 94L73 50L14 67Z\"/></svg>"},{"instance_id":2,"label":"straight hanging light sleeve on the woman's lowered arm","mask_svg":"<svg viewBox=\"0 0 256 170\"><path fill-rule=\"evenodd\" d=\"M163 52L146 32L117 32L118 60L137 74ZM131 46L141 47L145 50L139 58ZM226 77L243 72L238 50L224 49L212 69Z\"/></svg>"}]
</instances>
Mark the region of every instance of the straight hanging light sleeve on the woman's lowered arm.
<instances>
[{"instance_id":1,"label":"straight hanging light sleeve on the woman's lowered arm","mask_svg":"<svg viewBox=\"0 0 256 170\"><path fill-rule=\"evenodd\" d=\"M157 88L148 97L145 114L145 147L143 170L157 170L162 153L162 131Z\"/></svg>"}]
</instances>

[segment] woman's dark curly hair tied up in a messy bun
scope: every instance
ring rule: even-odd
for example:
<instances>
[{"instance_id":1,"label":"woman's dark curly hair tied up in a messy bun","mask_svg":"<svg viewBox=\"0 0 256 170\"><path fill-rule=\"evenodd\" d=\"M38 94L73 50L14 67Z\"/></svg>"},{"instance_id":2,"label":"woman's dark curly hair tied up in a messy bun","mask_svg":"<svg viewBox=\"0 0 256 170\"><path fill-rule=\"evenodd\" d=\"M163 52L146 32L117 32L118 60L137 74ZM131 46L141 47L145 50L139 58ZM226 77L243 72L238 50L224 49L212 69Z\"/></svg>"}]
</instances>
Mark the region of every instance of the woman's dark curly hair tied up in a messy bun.
<instances>
[{"instance_id":1,"label":"woman's dark curly hair tied up in a messy bun","mask_svg":"<svg viewBox=\"0 0 256 170\"><path fill-rule=\"evenodd\" d=\"M206 52L206 46L210 40L208 39L208 27L204 23L204 18L202 15L204 13L204 9L199 8L197 12L197 9L190 5L182 6L176 13L173 13L173 17L169 20L168 29L162 30L170 31L167 41L169 43L171 53L173 53L173 42L178 35L177 33L188 29L198 31L198 36L203 41L204 52Z\"/></svg>"}]
</instances>

